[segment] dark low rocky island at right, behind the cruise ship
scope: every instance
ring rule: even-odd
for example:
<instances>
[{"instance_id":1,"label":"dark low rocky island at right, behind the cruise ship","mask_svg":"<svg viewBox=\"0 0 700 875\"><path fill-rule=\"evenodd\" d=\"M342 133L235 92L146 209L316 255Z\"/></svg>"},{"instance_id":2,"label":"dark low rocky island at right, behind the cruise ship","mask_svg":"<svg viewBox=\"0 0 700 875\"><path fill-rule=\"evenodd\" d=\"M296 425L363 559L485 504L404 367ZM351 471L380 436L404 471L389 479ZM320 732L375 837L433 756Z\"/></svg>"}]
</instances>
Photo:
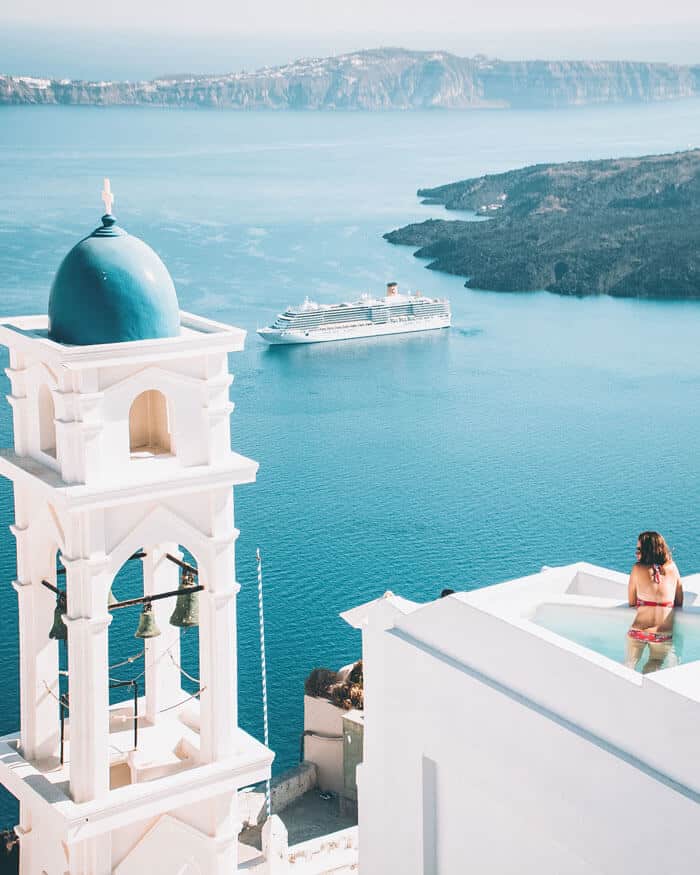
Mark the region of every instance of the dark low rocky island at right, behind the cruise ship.
<instances>
[{"instance_id":1,"label":"dark low rocky island at right, behind the cruise ship","mask_svg":"<svg viewBox=\"0 0 700 875\"><path fill-rule=\"evenodd\" d=\"M384 235L468 288L700 298L700 149L538 164L418 195L488 217Z\"/></svg>"}]
</instances>

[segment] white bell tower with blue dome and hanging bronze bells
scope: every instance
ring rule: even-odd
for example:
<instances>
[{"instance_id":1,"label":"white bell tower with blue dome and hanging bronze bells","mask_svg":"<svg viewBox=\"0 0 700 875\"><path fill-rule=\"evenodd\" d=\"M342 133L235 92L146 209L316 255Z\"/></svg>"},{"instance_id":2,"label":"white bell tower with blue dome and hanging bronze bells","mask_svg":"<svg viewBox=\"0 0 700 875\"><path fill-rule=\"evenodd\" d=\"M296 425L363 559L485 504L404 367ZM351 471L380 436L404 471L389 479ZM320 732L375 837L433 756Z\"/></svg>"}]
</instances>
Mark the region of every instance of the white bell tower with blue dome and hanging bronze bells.
<instances>
[{"instance_id":1,"label":"white bell tower with blue dome and hanging bronze bells","mask_svg":"<svg viewBox=\"0 0 700 875\"><path fill-rule=\"evenodd\" d=\"M230 448L227 354L245 332L177 309L175 328L163 328L170 299L142 276L166 282L149 259L162 262L111 215L80 247L66 262L78 259L84 273L64 293L64 262L48 317L0 324L14 416L0 473L14 484L21 702L19 731L0 740L0 782L20 802L20 872L231 875L237 791L268 778L273 759L237 720L233 487L253 482L258 466ZM70 343L56 337L59 325L73 331ZM175 598L157 598L178 589L181 547L202 587L194 695L181 688ZM161 634L144 641L137 702L110 707L110 586L134 554ZM62 611L65 643L49 637Z\"/></svg>"}]
</instances>

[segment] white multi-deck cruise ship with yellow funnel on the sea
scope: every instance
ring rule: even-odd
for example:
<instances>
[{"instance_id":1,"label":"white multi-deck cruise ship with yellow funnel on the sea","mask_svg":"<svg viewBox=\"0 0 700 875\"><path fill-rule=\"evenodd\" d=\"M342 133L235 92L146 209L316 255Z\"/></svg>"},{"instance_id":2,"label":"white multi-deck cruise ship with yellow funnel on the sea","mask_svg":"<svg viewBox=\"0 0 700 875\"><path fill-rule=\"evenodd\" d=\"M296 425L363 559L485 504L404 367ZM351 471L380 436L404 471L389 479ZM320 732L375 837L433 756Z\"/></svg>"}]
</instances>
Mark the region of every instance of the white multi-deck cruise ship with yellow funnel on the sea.
<instances>
[{"instance_id":1,"label":"white multi-deck cruise ship with yellow funnel on the sea","mask_svg":"<svg viewBox=\"0 0 700 875\"><path fill-rule=\"evenodd\" d=\"M280 313L268 328L258 328L258 334L268 343L320 343L449 328L451 319L449 301L419 292L402 295L396 283L387 283L384 298L363 295L347 304L316 304L307 298Z\"/></svg>"}]
</instances>

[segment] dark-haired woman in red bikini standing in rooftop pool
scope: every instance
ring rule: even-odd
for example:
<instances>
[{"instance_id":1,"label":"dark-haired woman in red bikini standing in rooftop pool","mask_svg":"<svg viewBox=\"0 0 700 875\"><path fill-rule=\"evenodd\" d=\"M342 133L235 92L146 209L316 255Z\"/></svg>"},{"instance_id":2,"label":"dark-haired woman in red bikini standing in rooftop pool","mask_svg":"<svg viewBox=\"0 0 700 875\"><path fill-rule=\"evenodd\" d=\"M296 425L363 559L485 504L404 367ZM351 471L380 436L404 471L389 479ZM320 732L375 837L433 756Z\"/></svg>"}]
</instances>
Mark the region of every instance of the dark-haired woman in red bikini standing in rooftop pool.
<instances>
[{"instance_id":1,"label":"dark-haired woman in red bikini standing in rooftop pool","mask_svg":"<svg viewBox=\"0 0 700 875\"><path fill-rule=\"evenodd\" d=\"M642 532L637 561L630 574L630 607L637 608L627 633L625 665L636 668L645 647L644 674L656 671L673 656L673 609L683 605L683 584L666 541L658 532Z\"/></svg>"}]
</instances>

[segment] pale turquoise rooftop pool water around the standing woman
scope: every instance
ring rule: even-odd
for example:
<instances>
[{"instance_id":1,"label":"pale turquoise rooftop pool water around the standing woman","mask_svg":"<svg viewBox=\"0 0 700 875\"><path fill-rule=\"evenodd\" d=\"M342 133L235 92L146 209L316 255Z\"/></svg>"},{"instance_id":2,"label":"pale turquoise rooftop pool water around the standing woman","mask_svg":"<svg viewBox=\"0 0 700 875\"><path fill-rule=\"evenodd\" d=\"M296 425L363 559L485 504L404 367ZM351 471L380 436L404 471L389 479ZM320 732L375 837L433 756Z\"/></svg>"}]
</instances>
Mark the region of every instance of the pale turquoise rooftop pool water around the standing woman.
<instances>
[{"instance_id":1,"label":"pale turquoise rooftop pool water around the standing woman","mask_svg":"<svg viewBox=\"0 0 700 875\"><path fill-rule=\"evenodd\" d=\"M628 607L594 608L584 605L543 604L537 608L533 622L556 632L582 647L594 650L615 662L625 662L627 630L634 619ZM637 665L642 671L648 648ZM700 659L700 612L696 608L679 611L673 627L673 646L663 668Z\"/></svg>"}]
</instances>

